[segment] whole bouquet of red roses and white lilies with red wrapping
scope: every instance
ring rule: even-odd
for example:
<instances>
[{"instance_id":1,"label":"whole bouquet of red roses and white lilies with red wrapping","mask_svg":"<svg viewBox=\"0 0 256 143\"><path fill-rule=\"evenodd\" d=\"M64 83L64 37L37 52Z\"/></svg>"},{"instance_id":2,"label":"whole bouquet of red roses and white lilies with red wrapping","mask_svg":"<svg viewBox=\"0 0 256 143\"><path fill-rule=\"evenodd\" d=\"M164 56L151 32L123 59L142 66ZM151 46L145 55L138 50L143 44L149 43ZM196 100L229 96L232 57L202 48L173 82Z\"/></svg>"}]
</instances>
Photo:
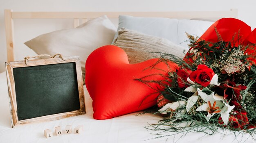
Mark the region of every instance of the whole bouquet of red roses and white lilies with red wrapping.
<instances>
[{"instance_id":1,"label":"whole bouquet of red roses and white lilies with red wrapping","mask_svg":"<svg viewBox=\"0 0 256 143\"><path fill-rule=\"evenodd\" d=\"M190 49L184 59L162 53L158 62L176 63L177 70L160 82L156 113L165 118L158 130L168 125L164 130L175 132L255 132L256 42L248 27L237 19L221 19L200 38L187 34Z\"/></svg>"}]
</instances>

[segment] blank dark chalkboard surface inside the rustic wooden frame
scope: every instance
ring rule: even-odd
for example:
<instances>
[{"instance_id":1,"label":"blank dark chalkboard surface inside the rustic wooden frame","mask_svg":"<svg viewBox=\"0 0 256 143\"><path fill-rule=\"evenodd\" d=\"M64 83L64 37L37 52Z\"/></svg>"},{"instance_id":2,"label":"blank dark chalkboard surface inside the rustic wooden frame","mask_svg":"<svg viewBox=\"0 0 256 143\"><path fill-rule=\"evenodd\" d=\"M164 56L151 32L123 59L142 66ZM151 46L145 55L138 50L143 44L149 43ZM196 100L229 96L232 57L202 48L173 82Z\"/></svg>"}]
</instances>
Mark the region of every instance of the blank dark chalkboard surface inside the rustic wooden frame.
<instances>
[{"instance_id":1,"label":"blank dark chalkboard surface inside the rustic wooden frame","mask_svg":"<svg viewBox=\"0 0 256 143\"><path fill-rule=\"evenodd\" d=\"M80 109L76 63L13 68L18 120Z\"/></svg>"}]
</instances>

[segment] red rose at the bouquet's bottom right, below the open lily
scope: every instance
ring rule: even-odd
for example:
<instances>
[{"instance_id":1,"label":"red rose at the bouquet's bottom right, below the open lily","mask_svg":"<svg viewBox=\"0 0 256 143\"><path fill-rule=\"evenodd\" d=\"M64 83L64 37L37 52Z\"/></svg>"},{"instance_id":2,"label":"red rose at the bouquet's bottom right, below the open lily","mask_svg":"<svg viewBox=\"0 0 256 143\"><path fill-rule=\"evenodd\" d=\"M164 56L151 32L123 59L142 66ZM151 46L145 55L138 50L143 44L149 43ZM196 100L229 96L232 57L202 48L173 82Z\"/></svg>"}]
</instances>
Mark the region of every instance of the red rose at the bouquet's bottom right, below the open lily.
<instances>
[{"instance_id":1,"label":"red rose at the bouquet's bottom right, below the open lily","mask_svg":"<svg viewBox=\"0 0 256 143\"><path fill-rule=\"evenodd\" d=\"M219 124L224 124L221 117L219 118ZM229 115L229 128L240 128L243 130L247 124L249 124L249 121L245 111L235 111L233 115Z\"/></svg>"}]
</instances>

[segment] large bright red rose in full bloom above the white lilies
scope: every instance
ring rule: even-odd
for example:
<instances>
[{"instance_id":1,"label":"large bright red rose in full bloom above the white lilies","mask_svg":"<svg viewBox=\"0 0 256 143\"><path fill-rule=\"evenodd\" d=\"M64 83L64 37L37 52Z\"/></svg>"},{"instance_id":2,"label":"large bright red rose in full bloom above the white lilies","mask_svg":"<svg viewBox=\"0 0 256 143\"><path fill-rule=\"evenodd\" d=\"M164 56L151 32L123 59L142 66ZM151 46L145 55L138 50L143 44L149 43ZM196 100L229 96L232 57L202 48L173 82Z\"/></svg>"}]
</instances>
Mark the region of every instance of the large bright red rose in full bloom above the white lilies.
<instances>
[{"instance_id":1,"label":"large bright red rose in full bloom above the white lilies","mask_svg":"<svg viewBox=\"0 0 256 143\"><path fill-rule=\"evenodd\" d=\"M214 72L207 65L198 65L198 69L189 75L190 80L196 82L203 87L210 85Z\"/></svg>"}]
</instances>

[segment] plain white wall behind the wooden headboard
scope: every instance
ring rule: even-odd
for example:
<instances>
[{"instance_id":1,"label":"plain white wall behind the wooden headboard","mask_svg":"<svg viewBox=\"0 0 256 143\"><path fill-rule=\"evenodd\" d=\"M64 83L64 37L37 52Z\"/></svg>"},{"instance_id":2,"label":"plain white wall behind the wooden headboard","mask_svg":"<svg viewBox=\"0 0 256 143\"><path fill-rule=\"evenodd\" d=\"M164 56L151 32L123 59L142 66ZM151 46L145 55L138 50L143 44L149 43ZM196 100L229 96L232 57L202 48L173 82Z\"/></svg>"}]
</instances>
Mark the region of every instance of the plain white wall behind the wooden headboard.
<instances>
[{"instance_id":1,"label":"plain white wall behind the wooden headboard","mask_svg":"<svg viewBox=\"0 0 256 143\"><path fill-rule=\"evenodd\" d=\"M255 0L0 0L0 72L7 59L4 9L13 11L227 11L256 27ZM63 24L63 21L65 24ZM45 32L72 27L71 20L15 20L15 60L35 53L23 43Z\"/></svg>"}]
</instances>

